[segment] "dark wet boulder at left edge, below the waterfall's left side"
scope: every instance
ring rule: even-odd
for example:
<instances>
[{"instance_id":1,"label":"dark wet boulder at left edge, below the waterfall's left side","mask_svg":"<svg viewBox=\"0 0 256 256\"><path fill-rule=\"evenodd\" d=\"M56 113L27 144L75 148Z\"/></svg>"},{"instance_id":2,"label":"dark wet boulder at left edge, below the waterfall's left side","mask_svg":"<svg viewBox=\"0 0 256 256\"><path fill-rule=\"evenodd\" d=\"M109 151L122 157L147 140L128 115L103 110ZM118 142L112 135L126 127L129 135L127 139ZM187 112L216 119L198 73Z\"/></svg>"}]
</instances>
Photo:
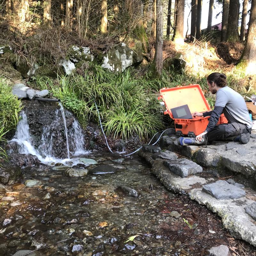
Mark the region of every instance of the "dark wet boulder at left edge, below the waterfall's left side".
<instances>
[{"instance_id":1,"label":"dark wet boulder at left edge, below the waterfall's left side","mask_svg":"<svg viewBox=\"0 0 256 256\"><path fill-rule=\"evenodd\" d=\"M21 169L19 166L0 166L0 183L4 185L12 185L14 183L17 183L20 177Z\"/></svg>"}]
</instances>

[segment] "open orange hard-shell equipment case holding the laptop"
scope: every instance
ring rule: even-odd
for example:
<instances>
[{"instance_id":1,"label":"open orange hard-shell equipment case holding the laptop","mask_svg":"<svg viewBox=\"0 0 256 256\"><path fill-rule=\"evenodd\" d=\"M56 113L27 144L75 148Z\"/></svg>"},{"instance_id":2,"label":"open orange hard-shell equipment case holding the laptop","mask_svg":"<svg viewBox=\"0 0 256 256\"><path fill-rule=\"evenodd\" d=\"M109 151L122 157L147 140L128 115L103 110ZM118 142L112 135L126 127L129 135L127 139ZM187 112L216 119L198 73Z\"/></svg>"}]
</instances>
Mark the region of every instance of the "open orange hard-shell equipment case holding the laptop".
<instances>
[{"instance_id":1,"label":"open orange hard-shell equipment case holding the laptop","mask_svg":"<svg viewBox=\"0 0 256 256\"><path fill-rule=\"evenodd\" d=\"M176 108L188 104L191 114L194 112L211 111L208 101L204 97L199 84L189 84L187 86L178 86L174 88L160 89L161 96L158 100L163 100L166 111L164 114L169 114L174 120L176 134L179 136L187 135L188 137L195 137L204 132L210 117L193 117L192 119L174 119L171 108ZM217 124L227 124L228 120L221 114Z\"/></svg>"}]
</instances>

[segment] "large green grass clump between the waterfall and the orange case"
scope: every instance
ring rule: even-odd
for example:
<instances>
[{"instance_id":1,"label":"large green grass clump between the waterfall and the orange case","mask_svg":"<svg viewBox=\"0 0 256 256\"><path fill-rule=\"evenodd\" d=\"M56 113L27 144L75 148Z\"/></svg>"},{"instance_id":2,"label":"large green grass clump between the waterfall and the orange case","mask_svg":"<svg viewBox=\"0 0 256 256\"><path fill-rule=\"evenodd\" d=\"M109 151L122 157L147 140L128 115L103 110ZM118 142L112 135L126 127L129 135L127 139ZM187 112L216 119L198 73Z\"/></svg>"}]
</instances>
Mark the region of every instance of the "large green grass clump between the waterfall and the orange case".
<instances>
[{"instance_id":1,"label":"large green grass clump between the waterfall and the orange case","mask_svg":"<svg viewBox=\"0 0 256 256\"><path fill-rule=\"evenodd\" d=\"M89 121L99 122L96 102L107 135L127 139L138 134L147 138L163 126L154 93L158 90L156 81L137 77L130 70L114 74L91 66L84 76L59 76L56 81L41 77L37 87L50 89L83 126Z\"/></svg>"}]
</instances>

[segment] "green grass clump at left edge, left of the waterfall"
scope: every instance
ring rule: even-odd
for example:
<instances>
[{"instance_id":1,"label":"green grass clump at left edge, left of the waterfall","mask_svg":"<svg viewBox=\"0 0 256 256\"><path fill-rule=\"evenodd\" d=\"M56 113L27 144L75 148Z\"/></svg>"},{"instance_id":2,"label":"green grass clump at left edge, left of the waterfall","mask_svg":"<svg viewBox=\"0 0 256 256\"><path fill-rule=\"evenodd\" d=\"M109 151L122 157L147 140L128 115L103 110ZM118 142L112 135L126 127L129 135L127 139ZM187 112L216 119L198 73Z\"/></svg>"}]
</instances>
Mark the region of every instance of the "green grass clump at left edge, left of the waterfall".
<instances>
[{"instance_id":1,"label":"green grass clump at left edge, left of the waterfall","mask_svg":"<svg viewBox=\"0 0 256 256\"><path fill-rule=\"evenodd\" d=\"M12 94L11 87L0 79L0 143L5 142L4 135L16 127L21 109L21 102ZM0 160L5 156L0 148Z\"/></svg>"}]
</instances>

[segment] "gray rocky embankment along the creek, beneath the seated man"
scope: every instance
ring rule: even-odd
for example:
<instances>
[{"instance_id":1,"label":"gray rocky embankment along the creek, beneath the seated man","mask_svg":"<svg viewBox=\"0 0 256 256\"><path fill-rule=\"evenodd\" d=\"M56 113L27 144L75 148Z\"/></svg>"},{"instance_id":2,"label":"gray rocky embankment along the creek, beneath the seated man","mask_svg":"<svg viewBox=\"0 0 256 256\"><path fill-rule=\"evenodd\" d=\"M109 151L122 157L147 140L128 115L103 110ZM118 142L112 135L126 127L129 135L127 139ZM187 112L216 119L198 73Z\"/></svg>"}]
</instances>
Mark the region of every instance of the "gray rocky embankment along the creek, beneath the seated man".
<instances>
[{"instance_id":1,"label":"gray rocky embankment along the creek, beneath the seated man","mask_svg":"<svg viewBox=\"0 0 256 256\"><path fill-rule=\"evenodd\" d=\"M165 188L216 212L232 236L256 246L255 147L254 134L246 145L216 142L206 148L179 146L177 137L170 135L164 136L159 146L145 145L139 155ZM232 171L231 175L225 171ZM238 174L242 180L244 176L245 186L235 181Z\"/></svg>"}]
</instances>

